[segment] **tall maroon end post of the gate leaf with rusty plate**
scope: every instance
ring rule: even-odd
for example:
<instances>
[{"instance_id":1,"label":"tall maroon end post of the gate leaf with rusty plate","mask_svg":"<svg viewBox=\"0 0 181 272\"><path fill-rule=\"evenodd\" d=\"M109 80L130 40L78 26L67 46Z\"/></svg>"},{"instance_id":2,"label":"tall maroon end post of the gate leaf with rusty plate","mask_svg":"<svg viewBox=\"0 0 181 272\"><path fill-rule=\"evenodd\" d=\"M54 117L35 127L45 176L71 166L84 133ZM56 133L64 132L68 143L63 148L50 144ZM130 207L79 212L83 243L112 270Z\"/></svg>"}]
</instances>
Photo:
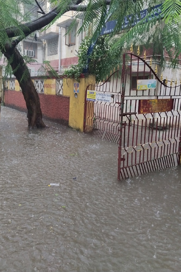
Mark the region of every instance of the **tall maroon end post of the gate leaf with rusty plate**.
<instances>
[{"instance_id":1,"label":"tall maroon end post of the gate leaf with rusty plate","mask_svg":"<svg viewBox=\"0 0 181 272\"><path fill-rule=\"evenodd\" d=\"M122 121L123 121L123 111L124 111L124 98L125 98L125 53L123 54L122 63L122 89L121 89L121 104L120 104L120 138L118 147L118 180L120 180L121 173L121 147L122 147Z\"/></svg>"}]
</instances>

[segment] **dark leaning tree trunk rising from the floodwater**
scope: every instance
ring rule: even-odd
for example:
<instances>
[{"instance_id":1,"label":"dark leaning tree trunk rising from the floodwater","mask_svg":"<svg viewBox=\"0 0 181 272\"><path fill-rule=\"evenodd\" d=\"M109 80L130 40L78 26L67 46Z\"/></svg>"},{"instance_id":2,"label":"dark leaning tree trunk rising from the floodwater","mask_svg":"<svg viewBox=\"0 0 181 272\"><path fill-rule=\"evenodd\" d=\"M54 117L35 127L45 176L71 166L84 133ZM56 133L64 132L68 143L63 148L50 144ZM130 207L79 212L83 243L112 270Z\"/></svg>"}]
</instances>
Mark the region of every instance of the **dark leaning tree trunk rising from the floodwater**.
<instances>
[{"instance_id":1,"label":"dark leaning tree trunk rising from the floodwater","mask_svg":"<svg viewBox=\"0 0 181 272\"><path fill-rule=\"evenodd\" d=\"M46 125L42 121L40 99L23 57L17 48L8 43L3 53L9 60L12 70L14 71L13 74L21 87L28 110L28 126L33 128L36 125L37 128L45 128Z\"/></svg>"}]
</instances>

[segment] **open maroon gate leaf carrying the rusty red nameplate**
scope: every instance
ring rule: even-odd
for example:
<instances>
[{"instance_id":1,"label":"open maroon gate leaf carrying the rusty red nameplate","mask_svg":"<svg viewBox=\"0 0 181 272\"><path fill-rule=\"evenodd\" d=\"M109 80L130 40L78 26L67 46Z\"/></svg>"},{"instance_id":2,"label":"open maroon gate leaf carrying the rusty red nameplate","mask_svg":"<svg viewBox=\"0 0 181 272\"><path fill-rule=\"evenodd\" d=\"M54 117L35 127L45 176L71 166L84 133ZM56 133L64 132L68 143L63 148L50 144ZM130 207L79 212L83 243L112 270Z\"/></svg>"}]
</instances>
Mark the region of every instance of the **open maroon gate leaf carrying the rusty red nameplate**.
<instances>
[{"instance_id":1,"label":"open maroon gate leaf carrying the rusty red nameplate","mask_svg":"<svg viewBox=\"0 0 181 272\"><path fill-rule=\"evenodd\" d=\"M180 164L181 81L157 74L146 54L123 55L118 180Z\"/></svg>"}]
</instances>

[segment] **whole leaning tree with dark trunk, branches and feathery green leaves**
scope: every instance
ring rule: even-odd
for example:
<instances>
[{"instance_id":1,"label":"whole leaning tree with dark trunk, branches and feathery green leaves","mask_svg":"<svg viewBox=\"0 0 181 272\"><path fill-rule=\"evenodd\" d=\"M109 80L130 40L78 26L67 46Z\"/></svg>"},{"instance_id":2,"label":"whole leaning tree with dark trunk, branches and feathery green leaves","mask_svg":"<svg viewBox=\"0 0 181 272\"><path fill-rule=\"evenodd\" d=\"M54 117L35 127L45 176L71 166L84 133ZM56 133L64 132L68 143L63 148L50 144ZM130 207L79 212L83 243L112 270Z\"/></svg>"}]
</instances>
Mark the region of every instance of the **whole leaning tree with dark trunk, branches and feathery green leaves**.
<instances>
[{"instance_id":1,"label":"whole leaning tree with dark trunk, branches and feathery green leaves","mask_svg":"<svg viewBox=\"0 0 181 272\"><path fill-rule=\"evenodd\" d=\"M17 45L34 31L48 28L67 11L75 11L69 31L75 27L80 18L83 23L79 26L77 34L91 24L92 44L105 23L108 20L116 19L116 27L110 34L110 38L120 30L121 34L114 47L126 47L131 42L138 44L141 39L142 44L152 44L154 48L160 47L167 50L170 57L174 56L172 65L176 65L181 52L181 5L179 0L165 0L164 2L156 0L50 0L56 4L56 7L47 13L41 8L40 2L34 1L33 4L32 0L0 0L0 50L11 65L12 73L22 89L28 110L28 125L32 128L35 125L37 128L45 127L45 124L42 121L39 96ZM161 2L163 2L162 13L154 17L151 7ZM24 4L37 5L40 8L40 17L33 21L22 20L22 5ZM148 9L148 14L142 19L140 10L145 7ZM122 29L124 17L130 14L132 16L128 16L128 26ZM133 22L138 18L139 23L133 26ZM164 62L163 56L161 59Z\"/></svg>"}]
</instances>

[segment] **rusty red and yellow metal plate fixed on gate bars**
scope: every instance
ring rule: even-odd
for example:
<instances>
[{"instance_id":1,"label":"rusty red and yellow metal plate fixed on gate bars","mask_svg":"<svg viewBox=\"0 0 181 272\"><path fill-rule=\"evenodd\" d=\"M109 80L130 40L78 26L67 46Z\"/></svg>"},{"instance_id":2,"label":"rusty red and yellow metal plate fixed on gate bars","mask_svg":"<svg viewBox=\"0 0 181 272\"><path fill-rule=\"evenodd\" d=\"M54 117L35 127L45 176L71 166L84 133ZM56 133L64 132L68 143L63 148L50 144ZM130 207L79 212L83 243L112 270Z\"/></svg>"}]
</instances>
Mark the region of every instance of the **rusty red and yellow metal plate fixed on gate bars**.
<instances>
[{"instance_id":1,"label":"rusty red and yellow metal plate fixed on gate bars","mask_svg":"<svg viewBox=\"0 0 181 272\"><path fill-rule=\"evenodd\" d=\"M138 113L169 112L173 108L173 99L141 99Z\"/></svg>"}]
</instances>

